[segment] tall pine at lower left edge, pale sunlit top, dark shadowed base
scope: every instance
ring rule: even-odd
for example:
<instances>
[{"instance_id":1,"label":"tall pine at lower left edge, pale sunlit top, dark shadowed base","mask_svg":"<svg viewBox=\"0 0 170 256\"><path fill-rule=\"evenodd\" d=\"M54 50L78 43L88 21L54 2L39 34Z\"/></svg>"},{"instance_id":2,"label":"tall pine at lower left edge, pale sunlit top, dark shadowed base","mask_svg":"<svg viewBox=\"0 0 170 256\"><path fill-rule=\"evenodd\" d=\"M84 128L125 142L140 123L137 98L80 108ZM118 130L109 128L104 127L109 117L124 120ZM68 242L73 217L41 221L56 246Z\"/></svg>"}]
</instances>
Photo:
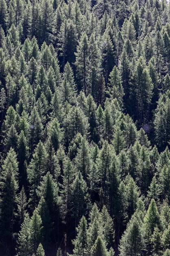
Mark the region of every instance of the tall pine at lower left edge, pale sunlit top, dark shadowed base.
<instances>
[{"instance_id":1,"label":"tall pine at lower left edge, pale sunlit top, dark shadowed base","mask_svg":"<svg viewBox=\"0 0 170 256\"><path fill-rule=\"evenodd\" d=\"M16 154L11 148L2 165L1 180L1 230L3 236L1 240L4 245L11 246L12 236L15 232L14 223L17 209L17 189L18 189L18 166L16 162Z\"/></svg>"}]
</instances>

